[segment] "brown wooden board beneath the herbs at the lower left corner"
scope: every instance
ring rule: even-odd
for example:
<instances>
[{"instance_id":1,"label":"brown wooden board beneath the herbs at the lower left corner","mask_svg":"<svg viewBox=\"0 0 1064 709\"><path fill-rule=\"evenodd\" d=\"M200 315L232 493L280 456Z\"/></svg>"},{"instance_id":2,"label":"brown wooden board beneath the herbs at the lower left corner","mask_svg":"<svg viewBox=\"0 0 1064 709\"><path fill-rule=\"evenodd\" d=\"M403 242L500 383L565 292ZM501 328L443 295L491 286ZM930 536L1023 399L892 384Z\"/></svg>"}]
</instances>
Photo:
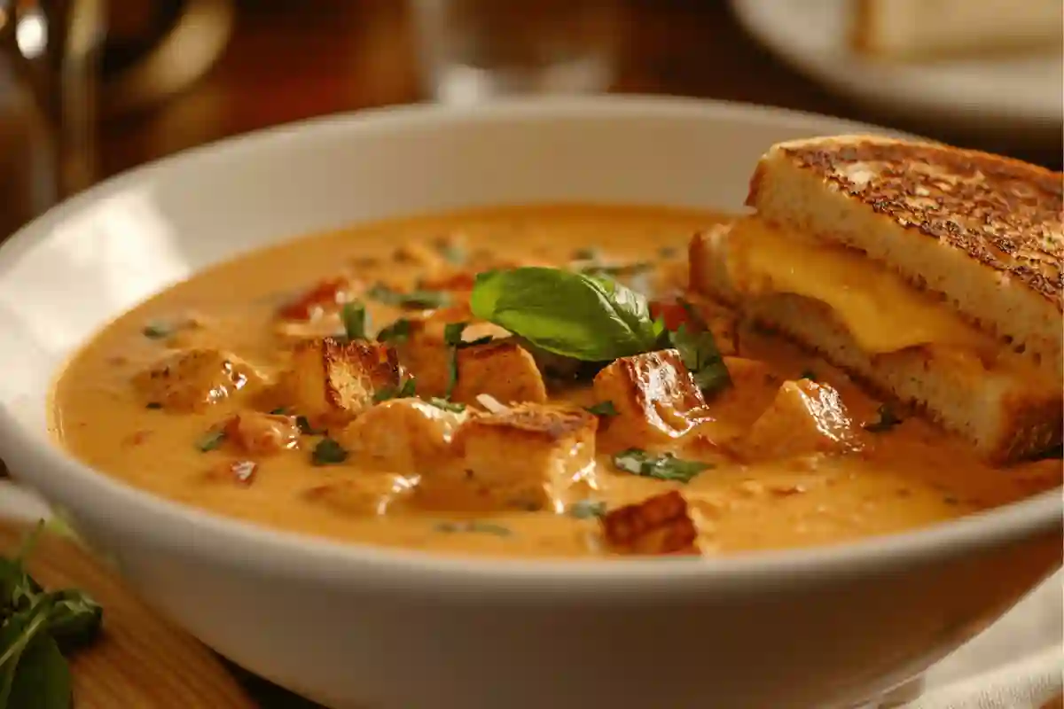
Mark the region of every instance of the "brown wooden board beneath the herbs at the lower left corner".
<instances>
[{"instance_id":1,"label":"brown wooden board beneath the herbs at the lower left corner","mask_svg":"<svg viewBox=\"0 0 1064 709\"><path fill-rule=\"evenodd\" d=\"M0 521L0 553L30 527ZM46 589L76 587L103 606L99 640L71 657L76 709L254 709L211 651L161 618L77 543L41 534L28 563Z\"/></svg>"}]
</instances>

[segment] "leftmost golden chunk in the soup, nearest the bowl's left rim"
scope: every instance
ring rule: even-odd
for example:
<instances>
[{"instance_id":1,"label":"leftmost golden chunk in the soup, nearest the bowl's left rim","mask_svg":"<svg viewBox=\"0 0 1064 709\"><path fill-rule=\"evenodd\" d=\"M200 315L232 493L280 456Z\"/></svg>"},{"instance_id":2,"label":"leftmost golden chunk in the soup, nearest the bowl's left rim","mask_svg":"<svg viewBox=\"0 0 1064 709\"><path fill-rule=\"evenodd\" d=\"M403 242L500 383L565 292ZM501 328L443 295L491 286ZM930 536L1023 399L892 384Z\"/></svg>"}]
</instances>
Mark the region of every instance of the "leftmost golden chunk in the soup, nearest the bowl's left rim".
<instances>
[{"instance_id":1,"label":"leftmost golden chunk in the soup, nearest the bowl's left rim","mask_svg":"<svg viewBox=\"0 0 1064 709\"><path fill-rule=\"evenodd\" d=\"M261 383L250 365L215 349L178 352L133 377L146 404L182 412L203 410Z\"/></svg>"}]
</instances>

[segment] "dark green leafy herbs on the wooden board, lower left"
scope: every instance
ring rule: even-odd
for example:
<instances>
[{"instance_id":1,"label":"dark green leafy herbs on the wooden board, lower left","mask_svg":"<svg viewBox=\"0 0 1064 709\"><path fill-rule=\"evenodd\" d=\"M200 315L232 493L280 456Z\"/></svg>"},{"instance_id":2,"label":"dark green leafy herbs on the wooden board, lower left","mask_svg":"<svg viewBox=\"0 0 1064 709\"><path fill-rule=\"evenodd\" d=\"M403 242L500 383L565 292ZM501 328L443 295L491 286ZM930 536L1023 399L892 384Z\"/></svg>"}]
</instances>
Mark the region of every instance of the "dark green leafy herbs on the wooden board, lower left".
<instances>
[{"instance_id":1,"label":"dark green leafy herbs on the wooden board, lower left","mask_svg":"<svg viewBox=\"0 0 1064 709\"><path fill-rule=\"evenodd\" d=\"M45 591L24 562L41 521L13 558L0 558L0 708L69 709L64 652L92 642L103 610L77 589Z\"/></svg>"}]
</instances>

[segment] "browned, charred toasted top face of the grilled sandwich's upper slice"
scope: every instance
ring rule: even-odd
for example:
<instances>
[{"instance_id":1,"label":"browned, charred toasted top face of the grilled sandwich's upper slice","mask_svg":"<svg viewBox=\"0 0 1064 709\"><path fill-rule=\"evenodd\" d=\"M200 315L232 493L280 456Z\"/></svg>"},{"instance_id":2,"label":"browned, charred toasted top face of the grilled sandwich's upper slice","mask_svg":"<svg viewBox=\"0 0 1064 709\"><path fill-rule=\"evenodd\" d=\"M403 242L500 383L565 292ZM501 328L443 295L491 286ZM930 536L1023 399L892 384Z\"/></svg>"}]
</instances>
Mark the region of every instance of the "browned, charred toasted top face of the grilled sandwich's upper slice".
<instances>
[{"instance_id":1,"label":"browned, charred toasted top face of the grilled sandwich's upper slice","mask_svg":"<svg viewBox=\"0 0 1064 709\"><path fill-rule=\"evenodd\" d=\"M959 249L1064 310L1064 175L949 146L877 136L783 142L782 154L902 229ZM746 203L755 206L763 159Z\"/></svg>"}]
</instances>

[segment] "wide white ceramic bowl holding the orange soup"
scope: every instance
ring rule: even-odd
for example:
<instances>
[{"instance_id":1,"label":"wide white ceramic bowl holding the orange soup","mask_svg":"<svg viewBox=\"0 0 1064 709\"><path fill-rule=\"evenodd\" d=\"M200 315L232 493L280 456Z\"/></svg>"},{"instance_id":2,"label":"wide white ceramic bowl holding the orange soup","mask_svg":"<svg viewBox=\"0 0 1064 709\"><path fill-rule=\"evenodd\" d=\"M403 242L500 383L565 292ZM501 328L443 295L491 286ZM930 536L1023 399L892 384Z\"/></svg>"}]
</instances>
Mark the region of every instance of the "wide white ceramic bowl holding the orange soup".
<instances>
[{"instance_id":1,"label":"wide white ceramic bowl holding the orange soup","mask_svg":"<svg viewBox=\"0 0 1064 709\"><path fill-rule=\"evenodd\" d=\"M702 561L437 558L153 497L68 457L46 416L56 370L98 327L249 249L478 204L736 209L770 144L853 130L870 129L661 99L410 107L135 170L0 249L0 456L160 609L236 662L335 707L858 702L919 673L1059 565L1059 495L832 548Z\"/></svg>"}]
</instances>

